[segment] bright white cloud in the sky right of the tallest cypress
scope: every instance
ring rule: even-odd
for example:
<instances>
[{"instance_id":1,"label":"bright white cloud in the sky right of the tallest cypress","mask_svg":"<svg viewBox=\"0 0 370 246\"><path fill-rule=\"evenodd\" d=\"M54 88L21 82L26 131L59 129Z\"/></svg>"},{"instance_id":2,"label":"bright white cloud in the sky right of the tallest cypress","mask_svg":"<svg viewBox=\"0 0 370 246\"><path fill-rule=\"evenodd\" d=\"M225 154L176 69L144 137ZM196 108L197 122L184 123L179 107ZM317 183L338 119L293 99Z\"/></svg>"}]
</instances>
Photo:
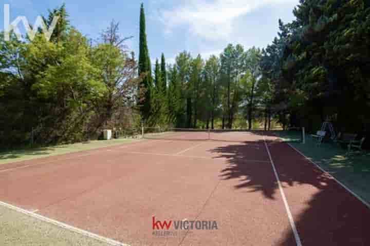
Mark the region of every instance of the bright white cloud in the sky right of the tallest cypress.
<instances>
[{"instance_id":1,"label":"bright white cloud in the sky right of the tallest cypress","mask_svg":"<svg viewBox=\"0 0 370 246\"><path fill-rule=\"evenodd\" d=\"M226 39L233 32L233 22L240 16L266 5L297 2L297 0L189 0L171 10L158 10L171 32L179 25L187 25L192 34L208 39Z\"/></svg>"}]
</instances>

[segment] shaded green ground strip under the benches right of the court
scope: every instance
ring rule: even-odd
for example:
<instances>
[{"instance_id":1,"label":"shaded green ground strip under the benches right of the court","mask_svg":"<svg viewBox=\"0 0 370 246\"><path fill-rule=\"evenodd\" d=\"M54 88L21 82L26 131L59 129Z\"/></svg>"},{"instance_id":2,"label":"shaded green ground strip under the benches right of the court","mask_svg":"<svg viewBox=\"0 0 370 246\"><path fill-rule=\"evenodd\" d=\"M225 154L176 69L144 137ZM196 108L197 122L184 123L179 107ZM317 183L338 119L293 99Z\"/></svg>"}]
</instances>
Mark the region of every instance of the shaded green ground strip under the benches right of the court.
<instances>
[{"instance_id":1,"label":"shaded green ground strip under the benches right of the court","mask_svg":"<svg viewBox=\"0 0 370 246\"><path fill-rule=\"evenodd\" d=\"M301 144L291 141L297 138L297 132L277 131L276 133L357 195L370 202L370 152L348 154L345 146L341 147L332 142L324 142L317 146L316 139L306 136L306 144Z\"/></svg>"}]
</instances>

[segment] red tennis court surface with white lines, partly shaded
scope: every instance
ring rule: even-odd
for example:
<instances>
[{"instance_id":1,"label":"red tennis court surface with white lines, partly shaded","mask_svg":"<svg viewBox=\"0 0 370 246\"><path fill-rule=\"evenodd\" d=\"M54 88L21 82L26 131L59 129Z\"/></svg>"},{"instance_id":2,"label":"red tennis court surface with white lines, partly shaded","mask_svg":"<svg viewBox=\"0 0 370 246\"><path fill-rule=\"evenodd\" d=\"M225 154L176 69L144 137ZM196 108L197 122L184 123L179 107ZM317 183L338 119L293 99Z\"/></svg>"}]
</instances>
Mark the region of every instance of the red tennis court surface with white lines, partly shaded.
<instances>
[{"instance_id":1,"label":"red tennis court surface with white lines, partly shaded","mask_svg":"<svg viewBox=\"0 0 370 246\"><path fill-rule=\"evenodd\" d=\"M272 135L143 140L10 163L0 187L3 202L132 246L370 245L365 204ZM153 236L152 216L218 230Z\"/></svg>"}]
</instances>

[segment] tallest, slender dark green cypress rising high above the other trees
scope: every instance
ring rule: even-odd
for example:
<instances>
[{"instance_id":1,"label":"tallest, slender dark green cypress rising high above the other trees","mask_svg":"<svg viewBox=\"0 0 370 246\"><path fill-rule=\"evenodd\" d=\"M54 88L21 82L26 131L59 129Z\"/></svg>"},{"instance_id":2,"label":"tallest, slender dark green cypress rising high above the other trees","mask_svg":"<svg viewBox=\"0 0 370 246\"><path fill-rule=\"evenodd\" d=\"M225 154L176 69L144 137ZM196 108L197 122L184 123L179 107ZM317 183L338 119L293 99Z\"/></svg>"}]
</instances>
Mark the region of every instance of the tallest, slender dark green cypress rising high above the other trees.
<instances>
[{"instance_id":1,"label":"tallest, slender dark green cypress rising high above the other trees","mask_svg":"<svg viewBox=\"0 0 370 246\"><path fill-rule=\"evenodd\" d=\"M145 90L139 103L141 116L148 119L151 113L152 68L146 42L144 5L140 8L139 76L143 75L140 87Z\"/></svg>"}]
</instances>

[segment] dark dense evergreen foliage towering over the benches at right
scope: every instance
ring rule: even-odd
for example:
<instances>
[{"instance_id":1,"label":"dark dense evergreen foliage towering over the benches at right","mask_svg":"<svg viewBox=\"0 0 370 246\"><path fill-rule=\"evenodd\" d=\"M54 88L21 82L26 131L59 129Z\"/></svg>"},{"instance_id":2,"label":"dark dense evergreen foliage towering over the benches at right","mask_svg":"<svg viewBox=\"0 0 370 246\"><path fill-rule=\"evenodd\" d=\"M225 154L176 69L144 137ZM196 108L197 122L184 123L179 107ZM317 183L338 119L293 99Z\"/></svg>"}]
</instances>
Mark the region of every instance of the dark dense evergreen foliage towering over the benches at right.
<instances>
[{"instance_id":1,"label":"dark dense evergreen foliage towering over the benches at right","mask_svg":"<svg viewBox=\"0 0 370 246\"><path fill-rule=\"evenodd\" d=\"M326 118L334 120L340 131L366 130L369 4L306 0L293 13L292 23L279 22L279 36L263 51L261 61L276 89L275 111L289 114L290 125L311 131Z\"/></svg>"}]
</instances>

